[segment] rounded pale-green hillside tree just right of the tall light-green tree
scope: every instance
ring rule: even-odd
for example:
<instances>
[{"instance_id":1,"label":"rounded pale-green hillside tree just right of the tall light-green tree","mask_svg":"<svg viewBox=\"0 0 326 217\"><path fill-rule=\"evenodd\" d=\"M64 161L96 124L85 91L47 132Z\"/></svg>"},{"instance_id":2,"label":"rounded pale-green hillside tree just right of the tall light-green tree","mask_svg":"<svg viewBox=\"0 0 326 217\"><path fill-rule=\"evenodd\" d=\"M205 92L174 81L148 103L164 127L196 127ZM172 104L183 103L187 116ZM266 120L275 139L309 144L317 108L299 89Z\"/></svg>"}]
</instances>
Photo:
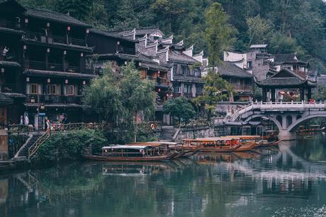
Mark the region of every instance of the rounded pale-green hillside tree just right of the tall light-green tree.
<instances>
[{"instance_id":1,"label":"rounded pale-green hillside tree just right of the tall light-green tree","mask_svg":"<svg viewBox=\"0 0 326 217\"><path fill-rule=\"evenodd\" d=\"M247 18L249 45L268 43L273 33L273 24L255 16L253 18Z\"/></svg>"}]
</instances>

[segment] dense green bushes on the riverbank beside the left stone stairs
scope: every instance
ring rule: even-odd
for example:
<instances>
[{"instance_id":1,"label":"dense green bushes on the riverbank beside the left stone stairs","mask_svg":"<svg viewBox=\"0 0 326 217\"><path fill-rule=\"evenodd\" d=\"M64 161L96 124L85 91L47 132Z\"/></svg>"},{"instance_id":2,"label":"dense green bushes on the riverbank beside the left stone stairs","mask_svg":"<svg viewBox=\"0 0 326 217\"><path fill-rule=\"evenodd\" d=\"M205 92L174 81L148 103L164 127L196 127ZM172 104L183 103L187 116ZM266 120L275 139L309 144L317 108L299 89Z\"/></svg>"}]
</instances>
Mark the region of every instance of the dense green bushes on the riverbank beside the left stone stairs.
<instances>
[{"instance_id":1,"label":"dense green bushes on the riverbank beside the left stone stairs","mask_svg":"<svg viewBox=\"0 0 326 217\"><path fill-rule=\"evenodd\" d=\"M57 162L62 160L78 160L85 149L91 146L93 152L101 151L107 140L98 130L76 130L69 133L54 133L40 146L35 156L38 162Z\"/></svg>"}]
</instances>

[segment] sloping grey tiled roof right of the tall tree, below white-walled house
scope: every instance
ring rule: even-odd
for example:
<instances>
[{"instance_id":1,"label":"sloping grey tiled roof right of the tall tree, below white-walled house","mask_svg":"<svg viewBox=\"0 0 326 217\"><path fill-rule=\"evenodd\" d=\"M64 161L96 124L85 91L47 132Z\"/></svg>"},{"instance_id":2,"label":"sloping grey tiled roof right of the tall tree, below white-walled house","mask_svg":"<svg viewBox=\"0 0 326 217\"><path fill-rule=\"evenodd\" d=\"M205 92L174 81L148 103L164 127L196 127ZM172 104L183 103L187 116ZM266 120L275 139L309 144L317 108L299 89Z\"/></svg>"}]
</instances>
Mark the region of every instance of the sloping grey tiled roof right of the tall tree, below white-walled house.
<instances>
[{"instance_id":1,"label":"sloping grey tiled roof right of the tall tree, below white-walled house","mask_svg":"<svg viewBox=\"0 0 326 217\"><path fill-rule=\"evenodd\" d=\"M218 72L225 77L242 77L242 78L252 78L252 74L246 72L245 69L237 67L237 65L231 62L223 62L222 65L218 67Z\"/></svg>"}]
</instances>

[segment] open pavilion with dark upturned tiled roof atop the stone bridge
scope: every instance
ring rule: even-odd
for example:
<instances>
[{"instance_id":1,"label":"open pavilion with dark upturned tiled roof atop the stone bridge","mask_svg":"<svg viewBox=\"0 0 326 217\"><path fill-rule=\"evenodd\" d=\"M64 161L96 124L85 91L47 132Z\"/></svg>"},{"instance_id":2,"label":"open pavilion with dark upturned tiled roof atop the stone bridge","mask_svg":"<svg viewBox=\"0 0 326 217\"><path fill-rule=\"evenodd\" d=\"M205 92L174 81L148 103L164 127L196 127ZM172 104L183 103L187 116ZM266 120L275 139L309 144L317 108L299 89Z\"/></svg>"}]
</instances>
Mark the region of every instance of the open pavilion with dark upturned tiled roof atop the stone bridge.
<instances>
[{"instance_id":1,"label":"open pavilion with dark upturned tiled roof atop the stone bridge","mask_svg":"<svg viewBox=\"0 0 326 217\"><path fill-rule=\"evenodd\" d=\"M309 101L311 90L317 87L316 82L301 77L290 69L281 69L262 81L255 80L262 88L262 101Z\"/></svg>"}]
</instances>

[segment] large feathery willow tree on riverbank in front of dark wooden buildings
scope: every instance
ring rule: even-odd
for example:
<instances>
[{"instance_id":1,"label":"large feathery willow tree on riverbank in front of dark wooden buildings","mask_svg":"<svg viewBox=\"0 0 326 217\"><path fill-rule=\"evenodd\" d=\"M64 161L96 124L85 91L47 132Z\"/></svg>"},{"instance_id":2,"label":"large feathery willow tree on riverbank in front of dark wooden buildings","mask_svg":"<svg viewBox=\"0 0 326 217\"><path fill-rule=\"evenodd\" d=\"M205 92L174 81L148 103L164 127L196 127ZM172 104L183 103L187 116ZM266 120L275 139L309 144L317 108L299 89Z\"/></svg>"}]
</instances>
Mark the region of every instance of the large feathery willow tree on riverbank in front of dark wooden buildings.
<instances>
[{"instance_id":1,"label":"large feathery willow tree on riverbank in front of dark wooden buildings","mask_svg":"<svg viewBox=\"0 0 326 217\"><path fill-rule=\"evenodd\" d=\"M133 62L113 72L106 65L103 76L84 89L84 102L119 132L134 133L137 114L152 118L155 105L154 83L142 79Z\"/></svg>"}]
</instances>

